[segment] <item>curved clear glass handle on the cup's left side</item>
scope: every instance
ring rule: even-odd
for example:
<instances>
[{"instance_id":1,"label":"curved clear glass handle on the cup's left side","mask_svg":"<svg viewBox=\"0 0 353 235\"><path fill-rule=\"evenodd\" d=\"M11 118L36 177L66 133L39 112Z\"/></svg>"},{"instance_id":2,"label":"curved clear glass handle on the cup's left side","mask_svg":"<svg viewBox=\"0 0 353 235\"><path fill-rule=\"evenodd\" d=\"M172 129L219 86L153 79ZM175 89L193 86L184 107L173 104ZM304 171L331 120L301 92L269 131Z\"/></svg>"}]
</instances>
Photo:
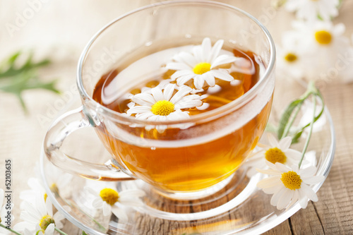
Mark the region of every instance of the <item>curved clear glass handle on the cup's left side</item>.
<instances>
[{"instance_id":1,"label":"curved clear glass handle on the cup's left side","mask_svg":"<svg viewBox=\"0 0 353 235\"><path fill-rule=\"evenodd\" d=\"M85 107L66 112L52 123L44 138L44 152L56 167L71 174L100 181L126 181L136 179L125 174L109 160L105 164L85 162L66 155L61 146L68 135L80 128L95 127L90 114Z\"/></svg>"}]
</instances>

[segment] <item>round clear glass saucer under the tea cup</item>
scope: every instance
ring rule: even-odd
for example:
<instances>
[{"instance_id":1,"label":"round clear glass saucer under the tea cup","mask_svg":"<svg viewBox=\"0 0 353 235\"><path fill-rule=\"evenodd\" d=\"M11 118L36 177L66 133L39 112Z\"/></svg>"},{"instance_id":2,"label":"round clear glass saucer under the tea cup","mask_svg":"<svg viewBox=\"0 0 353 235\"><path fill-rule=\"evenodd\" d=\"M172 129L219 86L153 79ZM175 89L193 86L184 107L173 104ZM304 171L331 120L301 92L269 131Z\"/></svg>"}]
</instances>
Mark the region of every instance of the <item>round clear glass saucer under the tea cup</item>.
<instances>
[{"instance_id":1,"label":"round clear glass saucer under the tea cup","mask_svg":"<svg viewBox=\"0 0 353 235\"><path fill-rule=\"evenodd\" d=\"M276 84L276 91L269 123L278 121L281 111L292 100L304 92L299 84L292 84L291 90L283 90L287 84ZM72 104L66 109L73 109ZM321 118L320 130L313 133L308 151L315 151L306 160L315 164L318 175L328 176L335 152L335 134L330 113L325 109ZM87 131L87 130L85 130ZM79 136L85 136L80 141ZM265 136L265 134L263 135ZM99 156L102 162L109 159L109 154L100 144L94 131L92 133L78 133L70 136L68 149L76 149L75 156L85 159L85 151ZM87 139L87 141L86 141ZM303 140L292 148L301 151ZM72 146L75 146L72 148ZM80 150L85 150L80 152ZM261 234L294 215L301 207L298 203L289 210L277 210L270 205L272 195L263 193L256 187L256 183L263 177L256 174L246 176L247 168L241 167L228 179L220 191L198 200L172 200L152 190L143 181L109 182L118 191L140 188L145 191L143 207L123 207L128 215L128 222L119 222L114 215L104 217L102 211L92 207L92 195L84 190L85 186L102 187L104 181L92 181L80 176L73 176L54 167L45 157L40 156L41 175L47 195L53 205L66 219L88 234ZM53 175L56 174L56 177ZM66 185L54 184L52 179L70 180ZM318 191L323 182L313 185L313 191ZM320 200L320 198L319 198Z\"/></svg>"}]
</instances>

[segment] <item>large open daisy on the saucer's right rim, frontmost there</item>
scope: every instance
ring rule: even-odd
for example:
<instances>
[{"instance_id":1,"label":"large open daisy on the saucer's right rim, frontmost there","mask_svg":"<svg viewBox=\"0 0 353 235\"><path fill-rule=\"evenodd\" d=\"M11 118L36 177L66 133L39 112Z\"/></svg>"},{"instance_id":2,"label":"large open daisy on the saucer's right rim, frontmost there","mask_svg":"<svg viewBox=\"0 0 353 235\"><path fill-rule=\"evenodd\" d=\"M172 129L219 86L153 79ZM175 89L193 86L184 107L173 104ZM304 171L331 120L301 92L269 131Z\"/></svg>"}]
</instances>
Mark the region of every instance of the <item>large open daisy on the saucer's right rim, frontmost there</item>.
<instances>
[{"instance_id":1,"label":"large open daisy on the saucer's right rim, frontmost there","mask_svg":"<svg viewBox=\"0 0 353 235\"><path fill-rule=\"evenodd\" d=\"M316 193L309 185L319 183L325 179L324 176L314 176L316 167L298 169L297 165L287 167L280 162L275 164L266 162L270 169L258 169L263 174L272 175L258 182L257 186L267 194L273 194L271 205L277 206L278 210L288 210L294 203L299 201L302 208L308 205L308 199L318 201Z\"/></svg>"}]
</instances>

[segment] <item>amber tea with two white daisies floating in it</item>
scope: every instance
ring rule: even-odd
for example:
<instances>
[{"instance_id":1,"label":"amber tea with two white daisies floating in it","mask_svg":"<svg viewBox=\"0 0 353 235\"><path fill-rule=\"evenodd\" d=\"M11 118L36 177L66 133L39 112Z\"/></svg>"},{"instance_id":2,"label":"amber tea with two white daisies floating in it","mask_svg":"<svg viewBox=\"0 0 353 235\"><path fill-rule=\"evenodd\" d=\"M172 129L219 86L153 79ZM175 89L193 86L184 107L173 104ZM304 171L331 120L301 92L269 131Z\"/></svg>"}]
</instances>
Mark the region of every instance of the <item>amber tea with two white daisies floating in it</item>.
<instances>
[{"instance_id":1,"label":"amber tea with two white daisies floating in it","mask_svg":"<svg viewBox=\"0 0 353 235\"><path fill-rule=\"evenodd\" d=\"M249 92L264 68L259 56L223 40L174 47L153 43L102 76L92 97L121 115L160 124L105 123L97 133L116 162L163 191L214 186L231 176L256 146L268 121L273 88L227 115L187 120L217 114ZM181 124L163 124L168 121Z\"/></svg>"}]
</instances>

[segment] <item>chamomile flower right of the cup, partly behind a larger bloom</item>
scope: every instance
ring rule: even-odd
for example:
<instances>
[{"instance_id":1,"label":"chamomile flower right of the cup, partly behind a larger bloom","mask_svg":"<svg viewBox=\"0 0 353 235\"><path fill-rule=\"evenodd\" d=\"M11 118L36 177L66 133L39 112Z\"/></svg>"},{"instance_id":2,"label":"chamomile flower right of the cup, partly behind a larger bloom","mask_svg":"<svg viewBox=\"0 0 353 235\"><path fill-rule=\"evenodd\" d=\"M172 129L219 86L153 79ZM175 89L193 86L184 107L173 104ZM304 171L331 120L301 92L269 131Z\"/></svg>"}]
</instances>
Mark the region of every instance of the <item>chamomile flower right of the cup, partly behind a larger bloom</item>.
<instances>
[{"instance_id":1,"label":"chamomile flower right of the cup, partly behind a larger bloom","mask_svg":"<svg viewBox=\"0 0 353 235\"><path fill-rule=\"evenodd\" d=\"M244 164L249 167L246 173L248 177L257 174L257 168L265 169L267 167L266 161L272 162L273 164L280 162L289 165L299 163L301 152L289 148L292 143L292 138L287 136L277 141L273 135L268 134L268 141L270 145L261 145L262 147L258 147L258 151L251 155Z\"/></svg>"}]
</instances>

